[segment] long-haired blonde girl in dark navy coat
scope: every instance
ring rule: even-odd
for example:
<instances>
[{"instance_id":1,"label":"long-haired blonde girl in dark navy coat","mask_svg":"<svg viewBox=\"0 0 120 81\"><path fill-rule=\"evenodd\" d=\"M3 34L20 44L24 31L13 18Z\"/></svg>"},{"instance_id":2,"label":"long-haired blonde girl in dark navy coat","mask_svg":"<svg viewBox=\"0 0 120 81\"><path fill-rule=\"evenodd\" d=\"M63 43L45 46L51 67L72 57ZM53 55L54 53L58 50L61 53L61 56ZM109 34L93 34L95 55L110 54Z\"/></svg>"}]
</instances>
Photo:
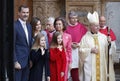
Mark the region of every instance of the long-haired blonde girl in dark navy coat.
<instances>
[{"instance_id":1,"label":"long-haired blonde girl in dark navy coat","mask_svg":"<svg viewBox=\"0 0 120 81\"><path fill-rule=\"evenodd\" d=\"M32 61L32 67L29 81L50 81L49 52L46 49L45 36L41 33L38 33L32 46L30 60ZM43 72L45 72L45 75Z\"/></svg>"}]
</instances>

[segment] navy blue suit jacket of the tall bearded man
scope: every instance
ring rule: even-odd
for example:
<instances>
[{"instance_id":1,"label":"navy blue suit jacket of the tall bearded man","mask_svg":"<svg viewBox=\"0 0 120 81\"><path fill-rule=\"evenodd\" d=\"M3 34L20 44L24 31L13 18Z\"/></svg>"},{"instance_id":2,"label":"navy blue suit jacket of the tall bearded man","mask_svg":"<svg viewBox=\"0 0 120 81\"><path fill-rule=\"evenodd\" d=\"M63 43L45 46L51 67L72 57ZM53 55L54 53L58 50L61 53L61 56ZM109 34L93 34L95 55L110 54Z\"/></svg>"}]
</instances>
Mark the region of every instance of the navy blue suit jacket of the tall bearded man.
<instances>
[{"instance_id":1,"label":"navy blue suit jacket of the tall bearded man","mask_svg":"<svg viewBox=\"0 0 120 81\"><path fill-rule=\"evenodd\" d=\"M28 65L30 48L32 44L32 27L26 24L28 29L29 44L22 24L19 20L14 23L14 62L18 61L22 68Z\"/></svg>"}]
</instances>

